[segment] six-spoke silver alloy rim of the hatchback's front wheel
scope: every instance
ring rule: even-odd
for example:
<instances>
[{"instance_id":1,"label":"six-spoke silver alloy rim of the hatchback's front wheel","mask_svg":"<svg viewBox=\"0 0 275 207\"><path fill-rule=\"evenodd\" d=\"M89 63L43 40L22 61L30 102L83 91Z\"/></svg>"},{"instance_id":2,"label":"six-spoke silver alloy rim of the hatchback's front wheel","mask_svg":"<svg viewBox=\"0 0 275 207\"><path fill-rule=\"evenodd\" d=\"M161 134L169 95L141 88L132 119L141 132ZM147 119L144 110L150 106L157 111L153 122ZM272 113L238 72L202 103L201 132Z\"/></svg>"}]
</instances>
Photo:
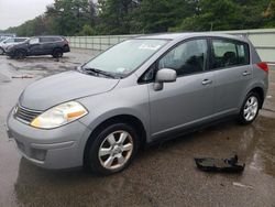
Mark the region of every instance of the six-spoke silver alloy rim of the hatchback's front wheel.
<instances>
[{"instance_id":1,"label":"six-spoke silver alloy rim of the hatchback's front wheel","mask_svg":"<svg viewBox=\"0 0 275 207\"><path fill-rule=\"evenodd\" d=\"M107 170L121 168L133 152L133 138L127 131L110 133L101 143L98 157L101 166Z\"/></svg>"}]
</instances>

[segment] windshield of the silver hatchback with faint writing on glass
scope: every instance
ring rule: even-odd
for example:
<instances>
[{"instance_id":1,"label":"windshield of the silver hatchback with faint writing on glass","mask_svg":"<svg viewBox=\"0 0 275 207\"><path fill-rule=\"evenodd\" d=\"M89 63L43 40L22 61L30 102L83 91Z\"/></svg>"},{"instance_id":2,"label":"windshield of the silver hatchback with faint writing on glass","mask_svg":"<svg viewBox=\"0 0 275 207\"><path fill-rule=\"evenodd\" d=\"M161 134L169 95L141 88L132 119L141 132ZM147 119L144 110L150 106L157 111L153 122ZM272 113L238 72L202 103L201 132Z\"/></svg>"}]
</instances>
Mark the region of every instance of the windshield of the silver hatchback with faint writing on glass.
<instances>
[{"instance_id":1,"label":"windshield of the silver hatchback with faint writing on glass","mask_svg":"<svg viewBox=\"0 0 275 207\"><path fill-rule=\"evenodd\" d=\"M167 40L128 40L96 56L82 69L97 69L125 77L166 43Z\"/></svg>"}]
</instances>

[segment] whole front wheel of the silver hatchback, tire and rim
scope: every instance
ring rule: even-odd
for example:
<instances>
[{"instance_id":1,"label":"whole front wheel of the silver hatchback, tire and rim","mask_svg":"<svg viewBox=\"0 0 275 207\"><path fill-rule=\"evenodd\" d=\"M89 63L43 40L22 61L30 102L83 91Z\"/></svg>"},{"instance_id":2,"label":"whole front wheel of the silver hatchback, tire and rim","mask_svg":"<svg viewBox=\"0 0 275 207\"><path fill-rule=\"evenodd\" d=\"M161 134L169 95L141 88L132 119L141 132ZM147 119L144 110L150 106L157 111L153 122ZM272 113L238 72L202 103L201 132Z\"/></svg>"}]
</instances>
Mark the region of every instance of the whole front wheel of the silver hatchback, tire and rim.
<instances>
[{"instance_id":1,"label":"whole front wheel of the silver hatchback, tire and rim","mask_svg":"<svg viewBox=\"0 0 275 207\"><path fill-rule=\"evenodd\" d=\"M95 137L87 150L85 165L98 175L124 170L138 152L138 133L127 123L111 124Z\"/></svg>"}]
</instances>

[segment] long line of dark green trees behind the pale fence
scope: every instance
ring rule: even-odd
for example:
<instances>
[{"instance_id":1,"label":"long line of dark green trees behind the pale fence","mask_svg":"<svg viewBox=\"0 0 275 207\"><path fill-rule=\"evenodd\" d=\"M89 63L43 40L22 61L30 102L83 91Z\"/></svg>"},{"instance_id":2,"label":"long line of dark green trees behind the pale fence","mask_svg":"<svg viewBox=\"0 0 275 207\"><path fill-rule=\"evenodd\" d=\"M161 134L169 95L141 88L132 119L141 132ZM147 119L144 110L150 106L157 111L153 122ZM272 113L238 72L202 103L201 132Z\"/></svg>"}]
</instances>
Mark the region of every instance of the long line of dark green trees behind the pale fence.
<instances>
[{"instance_id":1,"label":"long line of dark green trees behind the pale fence","mask_svg":"<svg viewBox=\"0 0 275 207\"><path fill-rule=\"evenodd\" d=\"M6 32L105 35L275 28L275 0L55 0Z\"/></svg>"}]
</instances>

